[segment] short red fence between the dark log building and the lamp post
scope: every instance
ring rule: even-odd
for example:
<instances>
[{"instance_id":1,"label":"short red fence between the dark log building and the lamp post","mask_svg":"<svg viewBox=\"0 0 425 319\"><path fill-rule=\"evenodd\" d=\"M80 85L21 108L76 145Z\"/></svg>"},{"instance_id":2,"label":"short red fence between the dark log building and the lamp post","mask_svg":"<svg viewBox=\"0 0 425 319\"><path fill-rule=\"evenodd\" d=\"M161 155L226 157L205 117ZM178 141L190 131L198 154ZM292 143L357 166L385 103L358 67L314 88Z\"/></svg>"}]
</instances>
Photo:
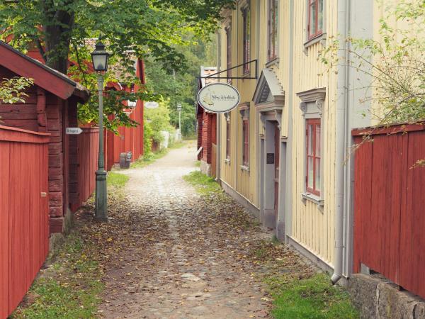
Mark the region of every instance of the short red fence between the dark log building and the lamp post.
<instances>
[{"instance_id":1,"label":"short red fence between the dark log building and the lamp post","mask_svg":"<svg viewBox=\"0 0 425 319\"><path fill-rule=\"evenodd\" d=\"M99 129L81 128L77 139L77 198L73 198L72 211L87 201L96 188L96 169L99 151Z\"/></svg>"}]
</instances>

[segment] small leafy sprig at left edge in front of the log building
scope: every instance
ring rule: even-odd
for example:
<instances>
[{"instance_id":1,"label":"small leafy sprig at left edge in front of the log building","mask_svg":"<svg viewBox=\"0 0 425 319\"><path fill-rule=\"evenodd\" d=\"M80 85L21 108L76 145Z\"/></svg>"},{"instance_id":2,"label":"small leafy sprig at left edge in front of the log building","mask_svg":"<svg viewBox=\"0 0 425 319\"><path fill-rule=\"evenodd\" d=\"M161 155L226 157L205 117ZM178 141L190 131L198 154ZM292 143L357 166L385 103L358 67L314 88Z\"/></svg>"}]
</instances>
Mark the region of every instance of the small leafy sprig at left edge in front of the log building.
<instances>
[{"instance_id":1,"label":"small leafy sprig at left edge in front of the log building","mask_svg":"<svg viewBox=\"0 0 425 319\"><path fill-rule=\"evenodd\" d=\"M1 103L19 103L25 102L25 89L33 85L33 79L25 77L13 77L11 79L3 79L0 82L0 102Z\"/></svg>"}]
</instances>

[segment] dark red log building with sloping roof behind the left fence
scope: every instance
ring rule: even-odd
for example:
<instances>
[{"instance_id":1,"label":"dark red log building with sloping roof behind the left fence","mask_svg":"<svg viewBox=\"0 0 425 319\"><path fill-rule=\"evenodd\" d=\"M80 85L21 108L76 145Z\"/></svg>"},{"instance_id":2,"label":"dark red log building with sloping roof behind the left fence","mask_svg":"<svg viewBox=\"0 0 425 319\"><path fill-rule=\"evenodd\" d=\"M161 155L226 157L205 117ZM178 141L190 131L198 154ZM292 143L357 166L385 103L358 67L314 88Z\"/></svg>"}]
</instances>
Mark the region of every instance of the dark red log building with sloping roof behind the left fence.
<instances>
[{"instance_id":1,"label":"dark red log building with sloping roof behind the left fence","mask_svg":"<svg viewBox=\"0 0 425 319\"><path fill-rule=\"evenodd\" d=\"M50 133L49 213L50 233L64 229L71 204L79 197L77 180L78 140L66 135L76 127L77 103L89 98L89 91L64 74L51 69L10 45L0 42L0 77L26 77L34 80L25 103L0 104L3 125L35 132ZM28 176L21 176L22 179Z\"/></svg>"}]
</instances>

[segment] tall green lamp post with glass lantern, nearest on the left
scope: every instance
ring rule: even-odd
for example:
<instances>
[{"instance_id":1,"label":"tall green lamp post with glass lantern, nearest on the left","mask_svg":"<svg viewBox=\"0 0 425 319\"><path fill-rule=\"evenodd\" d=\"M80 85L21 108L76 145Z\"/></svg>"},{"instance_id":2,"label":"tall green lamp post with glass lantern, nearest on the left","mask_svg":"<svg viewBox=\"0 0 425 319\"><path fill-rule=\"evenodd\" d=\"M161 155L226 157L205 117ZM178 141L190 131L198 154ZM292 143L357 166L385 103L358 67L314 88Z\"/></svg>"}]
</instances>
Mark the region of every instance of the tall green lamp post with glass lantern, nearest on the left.
<instances>
[{"instance_id":1,"label":"tall green lamp post with glass lantern, nearest on the left","mask_svg":"<svg viewBox=\"0 0 425 319\"><path fill-rule=\"evenodd\" d=\"M106 191L106 170L103 157L103 73L108 70L109 54L105 45L98 41L96 48L91 52L93 68L98 73L99 94L99 155L96 171L96 219L108 221L108 194Z\"/></svg>"}]
</instances>

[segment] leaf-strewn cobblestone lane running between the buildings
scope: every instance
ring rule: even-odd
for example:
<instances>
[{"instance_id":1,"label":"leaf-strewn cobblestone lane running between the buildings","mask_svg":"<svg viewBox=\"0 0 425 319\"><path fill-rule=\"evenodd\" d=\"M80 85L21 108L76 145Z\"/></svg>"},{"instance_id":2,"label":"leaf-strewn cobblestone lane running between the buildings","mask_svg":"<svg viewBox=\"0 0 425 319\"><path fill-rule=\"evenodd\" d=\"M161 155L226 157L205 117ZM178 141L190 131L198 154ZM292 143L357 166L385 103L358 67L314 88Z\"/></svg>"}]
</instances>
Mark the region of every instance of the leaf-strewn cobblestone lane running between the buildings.
<instances>
[{"instance_id":1,"label":"leaf-strewn cobblestone lane running between the buildings","mask_svg":"<svg viewBox=\"0 0 425 319\"><path fill-rule=\"evenodd\" d=\"M232 206L208 202L182 178L198 169L195 159L192 142L125 171L127 200L140 214L130 231L143 240L107 274L106 318L268 318L266 292L238 246L270 235L220 225L217 210Z\"/></svg>"}]
</instances>

